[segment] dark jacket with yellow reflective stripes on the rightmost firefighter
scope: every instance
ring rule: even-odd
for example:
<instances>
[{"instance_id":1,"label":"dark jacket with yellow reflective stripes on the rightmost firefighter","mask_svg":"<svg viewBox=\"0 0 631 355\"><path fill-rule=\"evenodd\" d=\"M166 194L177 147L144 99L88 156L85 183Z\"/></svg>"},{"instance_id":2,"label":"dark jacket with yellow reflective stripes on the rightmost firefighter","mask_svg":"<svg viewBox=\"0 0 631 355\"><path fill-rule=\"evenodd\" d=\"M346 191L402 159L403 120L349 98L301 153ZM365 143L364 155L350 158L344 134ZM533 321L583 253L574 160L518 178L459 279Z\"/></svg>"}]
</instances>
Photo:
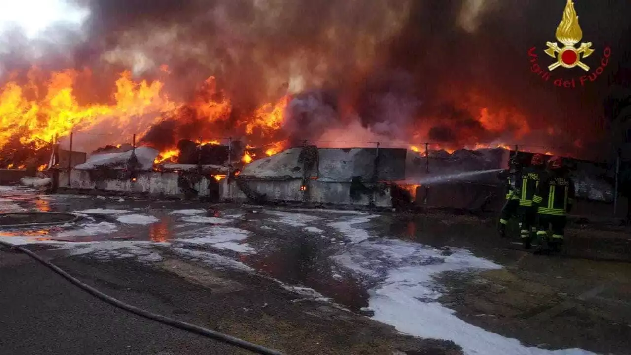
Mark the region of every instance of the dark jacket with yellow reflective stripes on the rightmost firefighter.
<instances>
[{"instance_id":1,"label":"dark jacket with yellow reflective stripes on the rightmost firefighter","mask_svg":"<svg viewBox=\"0 0 631 355\"><path fill-rule=\"evenodd\" d=\"M564 216L574 205L574 181L565 173L546 172L533 196L538 214Z\"/></svg>"}]
</instances>

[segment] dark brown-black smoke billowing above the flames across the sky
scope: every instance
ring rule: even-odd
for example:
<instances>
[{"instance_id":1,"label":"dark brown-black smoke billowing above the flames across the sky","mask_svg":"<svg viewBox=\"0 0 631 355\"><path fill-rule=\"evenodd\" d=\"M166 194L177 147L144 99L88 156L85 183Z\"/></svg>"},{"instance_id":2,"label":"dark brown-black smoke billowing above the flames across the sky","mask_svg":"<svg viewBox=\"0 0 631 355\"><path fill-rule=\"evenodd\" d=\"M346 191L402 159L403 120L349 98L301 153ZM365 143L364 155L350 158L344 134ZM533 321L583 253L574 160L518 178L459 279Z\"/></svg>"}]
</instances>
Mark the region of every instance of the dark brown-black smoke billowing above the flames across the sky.
<instances>
[{"instance_id":1,"label":"dark brown-black smoke billowing above the flames across the sky","mask_svg":"<svg viewBox=\"0 0 631 355\"><path fill-rule=\"evenodd\" d=\"M278 99L285 83L290 90L335 92L336 104L323 99L334 109L330 117L357 116L363 126L393 140L410 139L418 129L425 132L418 139L435 143L502 138L510 144L605 150L601 142L610 133L603 124L603 100L631 43L631 3L576 0L583 41L596 49L585 63L596 68L606 45L612 57L597 81L572 90L534 75L528 57L536 46L540 64L551 63L543 49L555 41L564 0L74 3L91 11L88 38L74 47L74 66L133 66L136 75L150 76L168 64L168 87L184 98L213 75L240 112ZM463 16L473 3L484 3L483 11ZM137 63L133 52L142 52L146 63ZM582 72L557 69L551 75L579 78ZM481 126L475 117L481 107L526 117L530 133L512 134L519 131L518 119L509 120L505 130ZM304 109L300 114L297 123L309 120ZM316 126L292 134L312 137L322 127Z\"/></svg>"}]
</instances>

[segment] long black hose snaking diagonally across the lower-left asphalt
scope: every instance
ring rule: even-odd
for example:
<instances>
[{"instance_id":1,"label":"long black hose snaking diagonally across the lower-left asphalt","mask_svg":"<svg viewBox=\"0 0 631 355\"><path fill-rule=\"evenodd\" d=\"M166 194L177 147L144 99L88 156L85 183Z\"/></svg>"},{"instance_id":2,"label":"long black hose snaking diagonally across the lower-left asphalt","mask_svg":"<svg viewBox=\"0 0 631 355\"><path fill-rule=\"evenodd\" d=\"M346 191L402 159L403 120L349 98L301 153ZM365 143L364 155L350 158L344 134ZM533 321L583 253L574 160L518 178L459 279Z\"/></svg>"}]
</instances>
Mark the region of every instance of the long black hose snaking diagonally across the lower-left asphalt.
<instances>
[{"instance_id":1,"label":"long black hose snaking diagonally across the lower-left asphalt","mask_svg":"<svg viewBox=\"0 0 631 355\"><path fill-rule=\"evenodd\" d=\"M249 351L256 352L257 354L263 354L263 355L285 355L283 352L276 351L276 350L273 350L273 349L268 349L266 347L262 347L260 345L253 344L251 342L247 342L245 340L242 340L242 339L239 339L239 338L235 338L235 337L232 337L232 336L227 335L227 334L221 334L219 332L215 332L214 330L209 330L209 329L206 329L206 328L198 327L197 325L192 325L192 324L189 324L189 323L180 322L179 320L174 320L173 318L168 318L167 316L158 315L156 313L151 313L149 311L142 310L141 308L134 307L131 304L127 304L127 303L124 303L122 301L119 301L118 299L115 299L113 297L107 296L107 294L104 294L103 292L98 291L94 287L88 286L87 284L81 282L81 280L79 280L76 277L73 277L72 275L68 274L68 272L65 272L61 268L57 267L57 265L54 265L53 263L50 263L47 260L44 260L41 256L39 256L39 255L33 253L32 251L24 248L23 246L7 243L5 241L0 241L0 245L8 246L12 250L18 250L18 251L21 251L22 253L25 253L26 255L28 255L31 258L37 260L38 262L44 264L46 267L52 269L54 272L56 272L57 274L59 274L62 277L64 277L64 279L70 281L72 284L74 284L74 286L77 286L80 289L82 289L83 291L88 292L92 296L95 296L96 298L98 298L98 299L100 299L102 301L105 301L105 302L107 302L109 304L112 304L113 306L121 308L122 310L126 310L128 312L134 313L135 315L143 316L144 318L148 318L150 320L154 320L155 322L163 323L163 324L166 324L166 325L170 325L171 327L175 327L175 328L179 328L179 329L182 329L182 330L186 330L187 332L191 332L191 333L194 333L194 334L202 335L203 337L207 337L207 338L210 338L210 339L215 339L215 340L218 340L220 342L225 342L225 343L233 345L233 346L242 347L243 349L247 349Z\"/></svg>"}]
</instances>

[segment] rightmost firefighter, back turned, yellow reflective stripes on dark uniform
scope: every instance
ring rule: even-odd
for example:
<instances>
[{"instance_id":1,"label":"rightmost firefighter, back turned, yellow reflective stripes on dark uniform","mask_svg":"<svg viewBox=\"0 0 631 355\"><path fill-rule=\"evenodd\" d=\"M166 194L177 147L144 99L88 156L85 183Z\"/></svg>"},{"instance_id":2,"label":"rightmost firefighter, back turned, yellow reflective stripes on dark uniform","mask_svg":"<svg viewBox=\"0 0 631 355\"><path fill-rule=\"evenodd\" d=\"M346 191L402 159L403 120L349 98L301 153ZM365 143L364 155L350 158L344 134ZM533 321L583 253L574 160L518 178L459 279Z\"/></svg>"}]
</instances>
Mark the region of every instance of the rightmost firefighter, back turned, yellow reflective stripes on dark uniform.
<instances>
[{"instance_id":1,"label":"rightmost firefighter, back turned, yellow reflective stripes on dark uniform","mask_svg":"<svg viewBox=\"0 0 631 355\"><path fill-rule=\"evenodd\" d=\"M563 244L563 230L566 215L574 204L574 182L569 178L569 171L563 167L561 157L552 157L548 162L548 171L533 196L533 207L537 208L540 239L538 252L558 252ZM551 231L551 235L548 233ZM547 248L546 248L547 244Z\"/></svg>"}]
</instances>

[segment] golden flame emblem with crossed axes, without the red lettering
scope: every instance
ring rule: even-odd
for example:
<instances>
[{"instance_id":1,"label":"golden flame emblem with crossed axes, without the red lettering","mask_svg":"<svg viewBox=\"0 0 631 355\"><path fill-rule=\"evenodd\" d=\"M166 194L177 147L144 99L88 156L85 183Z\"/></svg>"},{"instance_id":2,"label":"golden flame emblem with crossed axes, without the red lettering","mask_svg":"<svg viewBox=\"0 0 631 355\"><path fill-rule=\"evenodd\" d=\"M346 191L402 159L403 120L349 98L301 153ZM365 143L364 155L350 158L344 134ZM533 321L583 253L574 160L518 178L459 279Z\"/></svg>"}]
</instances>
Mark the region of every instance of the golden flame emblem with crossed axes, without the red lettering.
<instances>
[{"instance_id":1,"label":"golden flame emblem with crossed axes, without the red lettering","mask_svg":"<svg viewBox=\"0 0 631 355\"><path fill-rule=\"evenodd\" d=\"M548 56L551 56L557 61L550 64L548 69L554 70L559 66L563 68L574 68L578 66L584 71L589 71L589 66L581 62L582 57L589 57L594 50L591 49L592 43L581 43L579 48L575 48L574 45L581 42L583 38L583 31L579 25L579 16L576 15L574 9L574 1L567 0L565 4L565 10L563 11L563 19L557 27L557 40L563 44L563 47L559 47L557 42L546 42L548 49L545 50Z\"/></svg>"}]
</instances>

